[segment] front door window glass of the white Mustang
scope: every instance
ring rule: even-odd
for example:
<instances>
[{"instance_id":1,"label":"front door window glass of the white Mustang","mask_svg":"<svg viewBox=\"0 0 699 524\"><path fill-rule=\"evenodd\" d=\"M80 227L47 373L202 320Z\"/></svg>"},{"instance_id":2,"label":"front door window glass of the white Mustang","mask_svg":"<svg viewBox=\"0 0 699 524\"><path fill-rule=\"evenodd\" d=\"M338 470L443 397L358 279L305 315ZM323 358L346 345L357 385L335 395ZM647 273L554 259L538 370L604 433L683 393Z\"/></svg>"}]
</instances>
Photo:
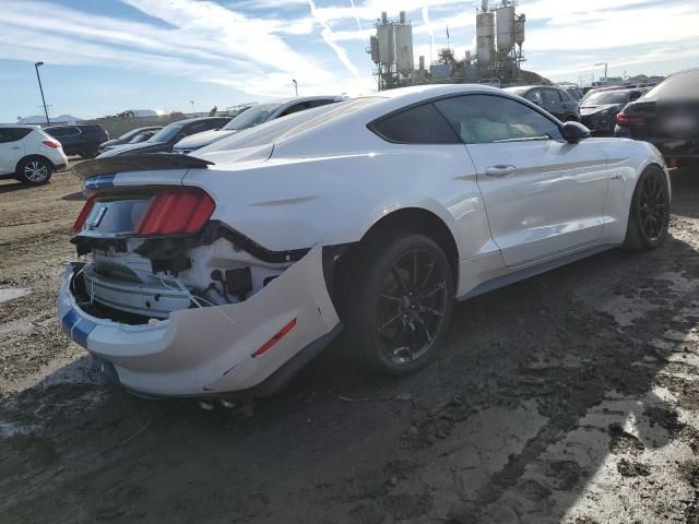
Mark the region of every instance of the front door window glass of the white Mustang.
<instances>
[{"instance_id":1,"label":"front door window glass of the white Mustang","mask_svg":"<svg viewBox=\"0 0 699 524\"><path fill-rule=\"evenodd\" d=\"M466 144L561 139L553 120L502 96L465 95L435 105Z\"/></svg>"}]
</instances>

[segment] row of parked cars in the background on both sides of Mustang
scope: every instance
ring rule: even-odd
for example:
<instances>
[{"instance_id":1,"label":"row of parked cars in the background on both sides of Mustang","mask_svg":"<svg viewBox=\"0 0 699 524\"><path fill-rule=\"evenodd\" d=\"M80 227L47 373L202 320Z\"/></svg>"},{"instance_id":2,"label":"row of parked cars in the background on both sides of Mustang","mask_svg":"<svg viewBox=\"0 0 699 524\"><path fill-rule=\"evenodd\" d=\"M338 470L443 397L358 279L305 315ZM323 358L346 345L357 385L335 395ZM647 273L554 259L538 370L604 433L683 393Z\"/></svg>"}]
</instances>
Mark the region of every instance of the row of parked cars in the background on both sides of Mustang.
<instances>
[{"instance_id":1,"label":"row of parked cars in the background on both sides of Mustang","mask_svg":"<svg viewBox=\"0 0 699 524\"><path fill-rule=\"evenodd\" d=\"M699 70L676 73L652 87L604 87L578 102L570 90L517 86L505 91L526 98L560 121L578 121L595 134L644 140L674 164L699 156L699 108L685 99L699 92ZM98 124L0 127L0 176L45 183L67 165L67 155L120 156L145 153L188 154L234 133L276 118L333 104L341 96L309 96L250 106L235 118L202 117L165 127L144 127L109 140Z\"/></svg>"}]
</instances>

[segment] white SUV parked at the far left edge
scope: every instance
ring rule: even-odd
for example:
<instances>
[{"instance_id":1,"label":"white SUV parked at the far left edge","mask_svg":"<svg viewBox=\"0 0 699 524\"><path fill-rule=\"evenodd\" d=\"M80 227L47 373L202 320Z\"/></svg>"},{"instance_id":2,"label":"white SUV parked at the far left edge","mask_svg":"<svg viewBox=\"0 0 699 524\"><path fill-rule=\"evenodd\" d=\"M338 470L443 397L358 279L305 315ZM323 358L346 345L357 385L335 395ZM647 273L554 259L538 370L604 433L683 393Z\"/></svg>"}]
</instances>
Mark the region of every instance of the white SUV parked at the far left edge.
<instances>
[{"instance_id":1,"label":"white SUV parked at the far left edge","mask_svg":"<svg viewBox=\"0 0 699 524\"><path fill-rule=\"evenodd\" d=\"M61 143L38 126L0 126L0 176L38 186L67 165Z\"/></svg>"}]
</instances>

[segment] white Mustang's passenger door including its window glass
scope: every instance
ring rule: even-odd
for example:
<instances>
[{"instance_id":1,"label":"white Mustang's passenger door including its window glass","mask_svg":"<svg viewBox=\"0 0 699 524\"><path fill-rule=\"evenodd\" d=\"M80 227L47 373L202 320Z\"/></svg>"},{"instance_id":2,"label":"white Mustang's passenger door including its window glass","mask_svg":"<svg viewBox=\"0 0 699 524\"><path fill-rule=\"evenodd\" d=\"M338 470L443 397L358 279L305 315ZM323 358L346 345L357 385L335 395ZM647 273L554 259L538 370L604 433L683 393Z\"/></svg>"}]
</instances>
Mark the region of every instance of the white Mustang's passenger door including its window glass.
<instances>
[{"instance_id":1,"label":"white Mustang's passenger door including its window glass","mask_svg":"<svg viewBox=\"0 0 699 524\"><path fill-rule=\"evenodd\" d=\"M570 144L548 116L500 95L463 95L436 106L466 144L508 266L600 238L608 171L593 141Z\"/></svg>"}]
</instances>

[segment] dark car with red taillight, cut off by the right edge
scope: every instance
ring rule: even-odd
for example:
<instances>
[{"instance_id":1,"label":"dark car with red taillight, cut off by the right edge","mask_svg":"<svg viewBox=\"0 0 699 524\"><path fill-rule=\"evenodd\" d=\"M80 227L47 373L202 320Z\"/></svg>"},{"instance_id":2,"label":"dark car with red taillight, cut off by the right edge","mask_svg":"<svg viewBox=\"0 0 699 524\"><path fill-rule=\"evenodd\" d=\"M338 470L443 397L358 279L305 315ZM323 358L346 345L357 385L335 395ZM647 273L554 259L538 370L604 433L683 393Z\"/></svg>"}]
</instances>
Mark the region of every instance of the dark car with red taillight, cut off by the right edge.
<instances>
[{"instance_id":1,"label":"dark car with red taillight, cut off by the right edge","mask_svg":"<svg viewBox=\"0 0 699 524\"><path fill-rule=\"evenodd\" d=\"M671 167L699 160L699 68L668 76L627 105L614 134L652 143Z\"/></svg>"}]
</instances>

